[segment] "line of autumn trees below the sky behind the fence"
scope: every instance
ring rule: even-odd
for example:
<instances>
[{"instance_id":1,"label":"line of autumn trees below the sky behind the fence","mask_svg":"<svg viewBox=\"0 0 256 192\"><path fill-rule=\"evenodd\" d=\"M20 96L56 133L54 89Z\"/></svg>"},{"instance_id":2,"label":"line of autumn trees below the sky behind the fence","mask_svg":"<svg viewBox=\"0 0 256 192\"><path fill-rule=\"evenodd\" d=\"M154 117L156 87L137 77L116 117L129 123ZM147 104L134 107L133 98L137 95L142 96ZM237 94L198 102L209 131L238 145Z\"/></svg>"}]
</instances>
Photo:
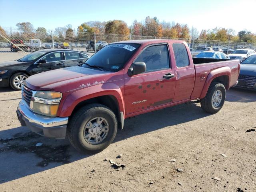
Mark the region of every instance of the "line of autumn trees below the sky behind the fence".
<instances>
[{"instance_id":1,"label":"line of autumn trees below the sky behind the fence","mask_svg":"<svg viewBox=\"0 0 256 192\"><path fill-rule=\"evenodd\" d=\"M19 31L5 31L0 26L0 34L3 36L22 36L23 38L39 38L44 41L51 41L51 32L44 27L38 27L36 30L30 22L17 23L16 27ZM92 33L92 37L88 34ZM219 41L237 41L237 42L254 42L256 43L256 34L250 31L242 30L238 33L228 28L203 29L199 32L196 28L188 28L187 24L174 22L160 22L157 17L150 18L147 16L142 22L134 20L132 26L128 26L122 20L111 20L107 22L89 21L82 23L80 26L73 28L71 24L64 27L57 27L54 30L54 38L59 41L72 41L76 39L93 39L93 33L96 34L120 34L128 36L130 34L136 36L155 36L165 38L183 38L183 39L203 39L203 40L219 40ZM87 35L87 36L86 36ZM85 37L86 36L86 37ZM2 37L0 37L2 40ZM125 39L121 39L125 40Z\"/></svg>"}]
</instances>

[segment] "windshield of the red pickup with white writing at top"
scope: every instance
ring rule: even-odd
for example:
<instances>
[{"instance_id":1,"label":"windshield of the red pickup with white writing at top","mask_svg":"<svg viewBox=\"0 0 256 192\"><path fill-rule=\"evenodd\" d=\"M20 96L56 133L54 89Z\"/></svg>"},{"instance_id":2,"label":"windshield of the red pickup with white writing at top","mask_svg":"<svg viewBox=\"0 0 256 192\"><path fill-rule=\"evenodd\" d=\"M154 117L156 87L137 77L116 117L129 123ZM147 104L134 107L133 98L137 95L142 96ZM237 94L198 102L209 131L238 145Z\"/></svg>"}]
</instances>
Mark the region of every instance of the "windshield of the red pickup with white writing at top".
<instances>
[{"instance_id":1,"label":"windshield of the red pickup with white writing at top","mask_svg":"<svg viewBox=\"0 0 256 192\"><path fill-rule=\"evenodd\" d=\"M140 44L109 44L90 57L82 67L102 68L103 70L117 72L134 54Z\"/></svg>"}]
</instances>

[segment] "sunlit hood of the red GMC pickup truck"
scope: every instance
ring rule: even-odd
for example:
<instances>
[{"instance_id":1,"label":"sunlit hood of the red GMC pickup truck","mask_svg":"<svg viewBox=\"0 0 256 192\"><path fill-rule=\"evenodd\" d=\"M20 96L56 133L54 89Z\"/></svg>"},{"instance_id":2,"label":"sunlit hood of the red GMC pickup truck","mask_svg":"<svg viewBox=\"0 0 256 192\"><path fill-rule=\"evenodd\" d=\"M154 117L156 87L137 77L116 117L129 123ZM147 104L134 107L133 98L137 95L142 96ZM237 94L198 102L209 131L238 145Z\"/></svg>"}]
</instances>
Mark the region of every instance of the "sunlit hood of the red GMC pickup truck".
<instances>
[{"instance_id":1,"label":"sunlit hood of the red GMC pickup truck","mask_svg":"<svg viewBox=\"0 0 256 192\"><path fill-rule=\"evenodd\" d=\"M124 77L123 74L113 74L114 72L80 66L67 67L30 76L26 79L25 86L32 90L54 90L63 93Z\"/></svg>"}]
</instances>

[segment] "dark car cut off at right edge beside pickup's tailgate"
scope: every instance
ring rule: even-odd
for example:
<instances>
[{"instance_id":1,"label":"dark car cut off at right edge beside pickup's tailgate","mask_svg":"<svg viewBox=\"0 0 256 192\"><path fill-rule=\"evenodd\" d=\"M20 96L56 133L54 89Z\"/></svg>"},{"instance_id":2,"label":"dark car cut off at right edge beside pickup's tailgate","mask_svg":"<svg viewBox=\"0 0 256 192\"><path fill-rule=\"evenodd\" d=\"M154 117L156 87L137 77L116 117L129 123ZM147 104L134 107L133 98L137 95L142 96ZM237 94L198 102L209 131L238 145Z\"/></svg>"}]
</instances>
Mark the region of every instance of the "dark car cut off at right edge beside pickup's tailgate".
<instances>
[{"instance_id":1,"label":"dark car cut off at right edge beside pickup's tailgate","mask_svg":"<svg viewBox=\"0 0 256 192\"><path fill-rule=\"evenodd\" d=\"M256 55L249 56L241 63L236 87L256 90Z\"/></svg>"}]
</instances>

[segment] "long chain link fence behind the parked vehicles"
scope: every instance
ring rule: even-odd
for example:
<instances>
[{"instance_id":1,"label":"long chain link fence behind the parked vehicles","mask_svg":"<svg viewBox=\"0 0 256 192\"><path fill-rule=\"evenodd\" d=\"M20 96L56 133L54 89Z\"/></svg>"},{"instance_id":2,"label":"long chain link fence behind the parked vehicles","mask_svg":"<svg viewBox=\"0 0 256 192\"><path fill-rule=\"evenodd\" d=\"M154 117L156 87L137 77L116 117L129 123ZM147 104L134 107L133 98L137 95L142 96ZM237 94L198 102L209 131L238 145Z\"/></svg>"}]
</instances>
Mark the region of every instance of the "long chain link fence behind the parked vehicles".
<instances>
[{"instance_id":1,"label":"long chain link fence behind the parked vehicles","mask_svg":"<svg viewBox=\"0 0 256 192\"><path fill-rule=\"evenodd\" d=\"M25 52L34 52L48 48L66 48L82 52L97 52L106 44L123 40L138 39L173 39L166 37L154 36L136 36L120 34L95 34L88 32L77 32L73 30L65 33L50 32L29 32L24 33L18 30L5 29L6 34L2 34L10 42L17 45ZM178 38L176 38L178 39ZM18 52L20 51L15 45L0 36L0 52ZM253 49L256 50L255 43L216 41L202 39L180 39L188 43L193 56L212 48L215 51L222 51L225 54L231 53L236 49Z\"/></svg>"}]
</instances>

